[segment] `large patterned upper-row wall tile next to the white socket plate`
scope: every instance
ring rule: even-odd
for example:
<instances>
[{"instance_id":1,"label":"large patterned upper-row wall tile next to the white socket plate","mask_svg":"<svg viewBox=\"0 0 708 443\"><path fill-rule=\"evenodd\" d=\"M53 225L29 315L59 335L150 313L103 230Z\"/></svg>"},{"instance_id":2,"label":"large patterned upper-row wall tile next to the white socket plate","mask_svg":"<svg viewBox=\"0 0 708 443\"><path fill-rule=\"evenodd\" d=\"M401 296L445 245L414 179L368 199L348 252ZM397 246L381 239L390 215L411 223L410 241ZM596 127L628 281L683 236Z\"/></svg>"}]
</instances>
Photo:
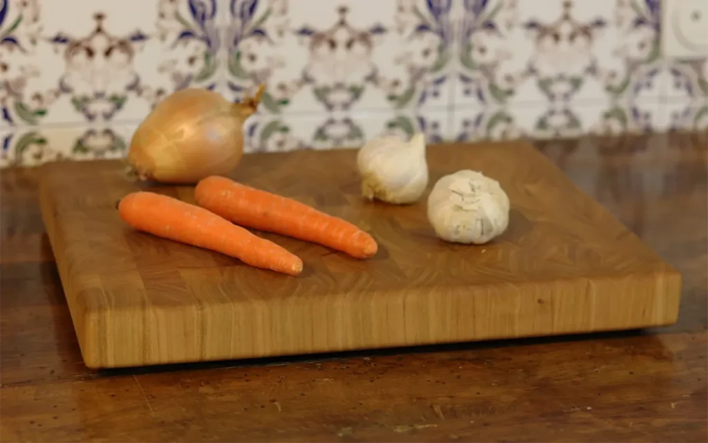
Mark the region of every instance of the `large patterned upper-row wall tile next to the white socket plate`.
<instances>
[{"instance_id":1,"label":"large patterned upper-row wall tile next to the white socket plate","mask_svg":"<svg viewBox=\"0 0 708 443\"><path fill-rule=\"evenodd\" d=\"M455 106L661 95L653 0L465 1Z\"/></svg>"}]
</instances>

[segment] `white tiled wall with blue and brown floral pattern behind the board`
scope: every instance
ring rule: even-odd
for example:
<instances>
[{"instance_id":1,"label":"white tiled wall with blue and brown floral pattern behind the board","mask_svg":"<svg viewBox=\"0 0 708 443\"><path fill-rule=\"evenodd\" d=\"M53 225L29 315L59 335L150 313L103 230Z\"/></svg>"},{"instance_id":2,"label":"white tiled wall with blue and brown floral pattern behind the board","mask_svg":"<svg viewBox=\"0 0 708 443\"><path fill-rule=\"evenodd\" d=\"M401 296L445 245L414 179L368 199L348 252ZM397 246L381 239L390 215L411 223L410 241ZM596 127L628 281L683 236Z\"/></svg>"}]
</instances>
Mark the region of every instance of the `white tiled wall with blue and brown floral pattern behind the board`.
<instances>
[{"instance_id":1,"label":"white tiled wall with blue and brown floral pattern behind the board","mask_svg":"<svg viewBox=\"0 0 708 443\"><path fill-rule=\"evenodd\" d=\"M708 125L658 0L0 0L0 167L125 154L175 89L268 84L249 150Z\"/></svg>"}]
</instances>

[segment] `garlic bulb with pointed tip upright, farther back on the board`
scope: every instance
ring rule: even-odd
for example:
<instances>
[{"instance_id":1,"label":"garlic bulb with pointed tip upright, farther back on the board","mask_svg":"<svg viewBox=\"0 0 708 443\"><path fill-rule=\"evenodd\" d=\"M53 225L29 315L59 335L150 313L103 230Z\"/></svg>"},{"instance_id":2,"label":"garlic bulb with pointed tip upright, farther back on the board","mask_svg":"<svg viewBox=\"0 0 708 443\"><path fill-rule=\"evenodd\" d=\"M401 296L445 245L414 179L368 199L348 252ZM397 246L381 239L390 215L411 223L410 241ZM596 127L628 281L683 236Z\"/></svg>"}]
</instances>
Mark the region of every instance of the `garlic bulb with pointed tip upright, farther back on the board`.
<instances>
[{"instance_id":1,"label":"garlic bulb with pointed tip upright, farther back on the board","mask_svg":"<svg viewBox=\"0 0 708 443\"><path fill-rule=\"evenodd\" d=\"M362 196L394 204L413 203L428 186L426 137L416 133L408 141L394 135L374 138L360 148L357 165Z\"/></svg>"}]
</instances>

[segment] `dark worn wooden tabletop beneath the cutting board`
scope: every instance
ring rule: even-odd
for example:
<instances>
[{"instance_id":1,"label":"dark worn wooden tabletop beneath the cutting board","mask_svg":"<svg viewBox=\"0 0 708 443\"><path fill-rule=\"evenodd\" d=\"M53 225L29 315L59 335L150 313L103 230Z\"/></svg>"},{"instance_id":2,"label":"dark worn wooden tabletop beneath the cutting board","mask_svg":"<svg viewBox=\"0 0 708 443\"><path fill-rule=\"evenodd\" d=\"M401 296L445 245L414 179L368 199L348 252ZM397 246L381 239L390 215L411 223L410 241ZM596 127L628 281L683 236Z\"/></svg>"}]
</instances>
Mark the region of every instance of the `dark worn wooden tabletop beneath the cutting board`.
<instances>
[{"instance_id":1,"label":"dark worn wooden tabletop beneath the cutting board","mask_svg":"<svg viewBox=\"0 0 708 443\"><path fill-rule=\"evenodd\" d=\"M537 147L683 274L678 324L95 372L38 171L0 171L0 442L707 441L708 138Z\"/></svg>"}]
</instances>

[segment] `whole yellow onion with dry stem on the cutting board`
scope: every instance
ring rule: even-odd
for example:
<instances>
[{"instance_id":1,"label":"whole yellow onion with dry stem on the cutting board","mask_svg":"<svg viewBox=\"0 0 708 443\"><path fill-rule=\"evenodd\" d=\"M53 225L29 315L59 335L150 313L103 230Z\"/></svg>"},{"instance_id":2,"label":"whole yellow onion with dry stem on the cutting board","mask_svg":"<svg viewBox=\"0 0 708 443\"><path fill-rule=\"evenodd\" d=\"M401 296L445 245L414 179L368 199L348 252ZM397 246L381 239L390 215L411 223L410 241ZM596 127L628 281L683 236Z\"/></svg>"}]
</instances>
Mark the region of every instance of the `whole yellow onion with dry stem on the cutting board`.
<instances>
[{"instance_id":1,"label":"whole yellow onion with dry stem on the cutting board","mask_svg":"<svg viewBox=\"0 0 708 443\"><path fill-rule=\"evenodd\" d=\"M265 86L231 103L208 89L181 89L158 103L130 141L127 162L142 180L194 184L231 172L244 152L244 120Z\"/></svg>"}]
</instances>

